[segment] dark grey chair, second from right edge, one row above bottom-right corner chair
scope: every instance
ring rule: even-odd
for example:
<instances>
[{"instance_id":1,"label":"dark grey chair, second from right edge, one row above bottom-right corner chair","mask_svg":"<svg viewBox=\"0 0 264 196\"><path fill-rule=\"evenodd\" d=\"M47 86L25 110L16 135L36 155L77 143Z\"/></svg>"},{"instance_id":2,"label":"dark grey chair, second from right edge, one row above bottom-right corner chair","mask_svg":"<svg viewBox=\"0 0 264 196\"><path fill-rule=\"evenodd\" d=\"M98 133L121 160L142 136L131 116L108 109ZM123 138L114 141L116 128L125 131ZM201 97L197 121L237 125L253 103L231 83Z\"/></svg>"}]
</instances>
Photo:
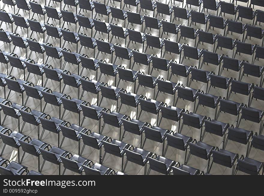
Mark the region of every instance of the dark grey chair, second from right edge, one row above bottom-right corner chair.
<instances>
[{"instance_id":1,"label":"dark grey chair, second from right edge, one row above bottom-right corner chair","mask_svg":"<svg viewBox=\"0 0 264 196\"><path fill-rule=\"evenodd\" d=\"M230 127L228 127L227 135L228 136L227 136L226 143L225 143L223 149L226 148L228 140L232 140L234 142L238 142L238 143L247 145L246 156L248 156L249 147L250 147L250 138L253 135L253 131L248 131L248 130L241 129L238 127L234 128L234 126L231 125Z\"/></svg>"}]
</instances>

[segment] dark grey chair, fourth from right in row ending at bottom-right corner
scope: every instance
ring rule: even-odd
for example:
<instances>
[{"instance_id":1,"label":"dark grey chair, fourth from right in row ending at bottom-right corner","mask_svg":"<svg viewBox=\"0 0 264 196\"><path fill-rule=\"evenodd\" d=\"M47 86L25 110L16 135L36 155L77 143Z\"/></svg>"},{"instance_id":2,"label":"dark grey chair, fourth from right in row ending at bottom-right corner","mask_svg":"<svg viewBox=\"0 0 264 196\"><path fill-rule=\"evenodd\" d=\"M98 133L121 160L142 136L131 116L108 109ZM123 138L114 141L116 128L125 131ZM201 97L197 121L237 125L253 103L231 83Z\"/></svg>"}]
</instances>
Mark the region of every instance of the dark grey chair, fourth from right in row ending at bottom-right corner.
<instances>
[{"instance_id":1,"label":"dark grey chair, fourth from right in row ending at bottom-right corner","mask_svg":"<svg viewBox=\"0 0 264 196\"><path fill-rule=\"evenodd\" d=\"M185 151L185 158L184 158L184 164L187 164L189 158L190 158L190 153L187 156L187 150L189 149L189 142L192 142L193 139L191 137L188 137L186 135L182 135L180 133L166 133L167 137L167 146L164 150L164 156L167 152L167 149L169 146L173 148L177 148L179 150Z\"/></svg>"}]
</instances>

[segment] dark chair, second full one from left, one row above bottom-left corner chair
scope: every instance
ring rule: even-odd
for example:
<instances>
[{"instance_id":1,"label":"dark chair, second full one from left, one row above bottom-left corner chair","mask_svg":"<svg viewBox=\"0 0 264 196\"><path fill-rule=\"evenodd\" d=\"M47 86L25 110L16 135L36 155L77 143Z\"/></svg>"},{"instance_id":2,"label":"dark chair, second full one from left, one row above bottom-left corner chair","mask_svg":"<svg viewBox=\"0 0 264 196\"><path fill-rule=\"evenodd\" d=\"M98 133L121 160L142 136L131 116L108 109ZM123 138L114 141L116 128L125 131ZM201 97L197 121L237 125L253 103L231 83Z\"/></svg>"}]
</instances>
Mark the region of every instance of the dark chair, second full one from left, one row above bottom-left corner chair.
<instances>
[{"instance_id":1,"label":"dark chair, second full one from left, one row above bottom-left corner chair","mask_svg":"<svg viewBox=\"0 0 264 196\"><path fill-rule=\"evenodd\" d=\"M38 171L40 171L40 154L41 154L41 152L39 151L38 148L46 149L49 147L49 145L46 144L45 142L42 142L42 141L35 139L35 138L31 139L29 137L29 139L30 139L30 141L28 140L28 142L23 141L21 139L18 139L19 144L21 145L21 148L24 151L20 162L22 163L23 158L24 158L26 153L31 154L35 157L38 157Z\"/></svg>"}]
</instances>

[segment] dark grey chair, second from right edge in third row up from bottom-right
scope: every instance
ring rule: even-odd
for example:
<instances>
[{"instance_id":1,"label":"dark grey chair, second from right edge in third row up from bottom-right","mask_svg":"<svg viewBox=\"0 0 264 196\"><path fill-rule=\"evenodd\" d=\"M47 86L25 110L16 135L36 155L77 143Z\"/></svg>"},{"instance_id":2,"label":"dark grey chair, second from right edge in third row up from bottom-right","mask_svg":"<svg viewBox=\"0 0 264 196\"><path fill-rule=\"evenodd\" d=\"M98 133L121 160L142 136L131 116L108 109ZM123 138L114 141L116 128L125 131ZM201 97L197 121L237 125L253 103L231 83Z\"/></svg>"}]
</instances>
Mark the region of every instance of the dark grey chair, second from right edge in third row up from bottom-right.
<instances>
[{"instance_id":1,"label":"dark grey chair, second from right edge in third row up from bottom-right","mask_svg":"<svg viewBox=\"0 0 264 196\"><path fill-rule=\"evenodd\" d=\"M241 110L241 107L244 106L244 104L243 103L240 104L235 101L231 101L228 99L225 100L225 98L221 98L219 106L220 108L218 110L215 120L218 119L221 111L227 114L232 114L234 116L237 116L238 117L237 119L239 119L240 110ZM217 105L216 111L217 109L218 109L218 105ZM238 120L237 120L237 124L238 124Z\"/></svg>"}]
</instances>

